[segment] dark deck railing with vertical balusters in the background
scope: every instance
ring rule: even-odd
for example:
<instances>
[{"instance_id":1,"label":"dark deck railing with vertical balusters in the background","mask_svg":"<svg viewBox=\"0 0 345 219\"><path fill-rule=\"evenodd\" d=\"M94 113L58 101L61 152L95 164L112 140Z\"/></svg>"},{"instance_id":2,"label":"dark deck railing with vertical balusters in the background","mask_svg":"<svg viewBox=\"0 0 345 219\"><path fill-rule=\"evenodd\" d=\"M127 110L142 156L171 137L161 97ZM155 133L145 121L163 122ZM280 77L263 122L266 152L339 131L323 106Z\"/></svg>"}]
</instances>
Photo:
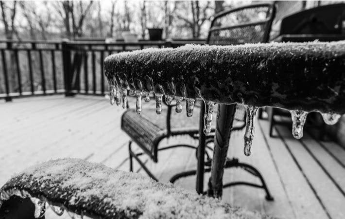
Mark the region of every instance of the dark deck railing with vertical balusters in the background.
<instances>
[{"instance_id":1,"label":"dark deck railing with vertical balusters in the background","mask_svg":"<svg viewBox=\"0 0 345 219\"><path fill-rule=\"evenodd\" d=\"M187 43L205 41L0 41L0 99L61 93L104 95L108 91L103 73L107 55Z\"/></svg>"}]
</instances>

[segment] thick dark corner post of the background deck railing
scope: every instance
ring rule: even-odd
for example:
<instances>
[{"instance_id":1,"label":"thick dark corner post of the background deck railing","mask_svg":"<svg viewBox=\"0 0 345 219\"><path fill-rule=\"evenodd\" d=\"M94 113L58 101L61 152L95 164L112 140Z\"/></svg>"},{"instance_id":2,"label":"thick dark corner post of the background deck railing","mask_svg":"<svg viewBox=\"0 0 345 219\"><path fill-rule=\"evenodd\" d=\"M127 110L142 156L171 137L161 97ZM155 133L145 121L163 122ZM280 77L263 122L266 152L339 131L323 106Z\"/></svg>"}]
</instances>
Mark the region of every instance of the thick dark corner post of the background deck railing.
<instances>
[{"instance_id":1,"label":"thick dark corner post of the background deck railing","mask_svg":"<svg viewBox=\"0 0 345 219\"><path fill-rule=\"evenodd\" d=\"M72 81L73 81L73 72L72 72L72 65L71 65L71 53L68 46L68 40L64 39L61 42L61 50L62 50L62 63L63 63L63 70L64 70L64 84L65 84L65 96L74 96L72 92Z\"/></svg>"}]
</instances>

